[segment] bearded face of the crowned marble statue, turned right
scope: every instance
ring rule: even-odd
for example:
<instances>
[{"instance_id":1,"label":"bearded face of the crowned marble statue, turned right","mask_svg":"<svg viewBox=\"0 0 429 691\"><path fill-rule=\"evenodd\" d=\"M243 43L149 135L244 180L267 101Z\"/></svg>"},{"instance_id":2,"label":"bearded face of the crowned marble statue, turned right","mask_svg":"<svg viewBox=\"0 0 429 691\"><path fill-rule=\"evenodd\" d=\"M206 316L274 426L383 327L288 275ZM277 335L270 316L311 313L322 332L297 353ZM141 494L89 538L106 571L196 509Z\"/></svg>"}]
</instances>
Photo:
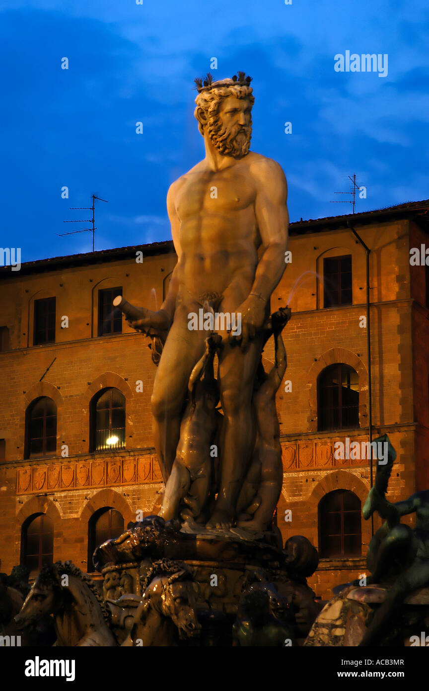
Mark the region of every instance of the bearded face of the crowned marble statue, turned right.
<instances>
[{"instance_id":1,"label":"bearded face of the crowned marble statue, turned right","mask_svg":"<svg viewBox=\"0 0 429 691\"><path fill-rule=\"evenodd\" d=\"M242 158L252 138L252 103L247 98L224 98L216 115L208 118L207 134L219 153Z\"/></svg>"}]
</instances>

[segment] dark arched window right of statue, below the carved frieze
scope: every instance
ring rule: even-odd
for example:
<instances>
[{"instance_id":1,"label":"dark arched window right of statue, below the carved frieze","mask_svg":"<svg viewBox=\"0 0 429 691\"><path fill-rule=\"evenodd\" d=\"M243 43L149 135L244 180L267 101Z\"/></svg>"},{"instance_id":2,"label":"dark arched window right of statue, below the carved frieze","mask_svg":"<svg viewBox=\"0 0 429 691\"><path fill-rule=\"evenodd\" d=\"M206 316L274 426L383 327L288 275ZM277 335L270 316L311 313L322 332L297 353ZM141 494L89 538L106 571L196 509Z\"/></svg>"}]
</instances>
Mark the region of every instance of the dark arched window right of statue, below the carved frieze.
<instances>
[{"instance_id":1,"label":"dark arched window right of statue, below the carved frieze","mask_svg":"<svg viewBox=\"0 0 429 691\"><path fill-rule=\"evenodd\" d=\"M320 500L319 554L325 559L361 556L361 500L355 493L336 489Z\"/></svg>"}]
</instances>

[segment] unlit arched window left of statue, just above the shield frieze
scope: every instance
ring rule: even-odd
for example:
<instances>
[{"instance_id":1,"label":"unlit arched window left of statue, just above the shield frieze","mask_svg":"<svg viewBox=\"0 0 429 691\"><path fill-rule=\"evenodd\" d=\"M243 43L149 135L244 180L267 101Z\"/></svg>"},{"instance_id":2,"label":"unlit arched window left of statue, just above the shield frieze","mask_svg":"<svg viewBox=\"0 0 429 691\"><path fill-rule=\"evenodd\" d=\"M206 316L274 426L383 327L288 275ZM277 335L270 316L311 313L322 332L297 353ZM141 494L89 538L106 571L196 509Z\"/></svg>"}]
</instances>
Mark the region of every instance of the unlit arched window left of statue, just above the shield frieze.
<instances>
[{"instance_id":1,"label":"unlit arched window left of statue, just above the shield frieze","mask_svg":"<svg viewBox=\"0 0 429 691\"><path fill-rule=\"evenodd\" d=\"M42 396L32 401L26 413L26 458L57 451L57 406Z\"/></svg>"}]
</instances>

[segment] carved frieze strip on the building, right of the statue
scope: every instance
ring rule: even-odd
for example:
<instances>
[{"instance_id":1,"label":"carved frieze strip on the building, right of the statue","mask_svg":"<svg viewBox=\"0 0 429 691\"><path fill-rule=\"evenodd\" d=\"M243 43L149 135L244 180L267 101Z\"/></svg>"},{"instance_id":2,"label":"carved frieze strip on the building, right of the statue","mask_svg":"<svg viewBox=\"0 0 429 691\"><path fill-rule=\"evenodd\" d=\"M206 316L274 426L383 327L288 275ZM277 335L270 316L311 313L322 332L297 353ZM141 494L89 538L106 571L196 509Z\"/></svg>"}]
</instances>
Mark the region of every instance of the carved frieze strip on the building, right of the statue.
<instances>
[{"instance_id":1,"label":"carved frieze strip on the building, right of the statue","mask_svg":"<svg viewBox=\"0 0 429 691\"><path fill-rule=\"evenodd\" d=\"M368 437L352 437L348 442L347 439L348 437L336 437L283 442L281 444L283 471L368 466L368 453L365 448ZM343 444L343 448L339 447L338 442ZM353 442L357 442L359 448L352 446ZM351 451L350 446L352 446Z\"/></svg>"}]
</instances>

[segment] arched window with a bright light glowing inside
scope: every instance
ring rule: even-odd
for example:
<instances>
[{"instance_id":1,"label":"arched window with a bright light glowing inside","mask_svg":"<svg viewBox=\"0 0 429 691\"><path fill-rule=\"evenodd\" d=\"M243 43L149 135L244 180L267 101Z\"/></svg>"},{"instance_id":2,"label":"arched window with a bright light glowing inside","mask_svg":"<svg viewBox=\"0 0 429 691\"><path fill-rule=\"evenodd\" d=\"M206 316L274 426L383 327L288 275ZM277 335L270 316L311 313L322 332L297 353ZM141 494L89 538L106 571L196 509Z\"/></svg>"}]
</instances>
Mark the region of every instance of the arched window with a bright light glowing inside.
<instances>
[{"instance_id":1,"label":"arched window with a bright light glowing inside","mask_svg":"<svg viewBox=\"0 0 429 691\"><path fill-rule=\"evenodd\" d=\"M116 388L99 392L91 401L91 451L125 447L125 396Z\"/></svg>"}]
</instances>

